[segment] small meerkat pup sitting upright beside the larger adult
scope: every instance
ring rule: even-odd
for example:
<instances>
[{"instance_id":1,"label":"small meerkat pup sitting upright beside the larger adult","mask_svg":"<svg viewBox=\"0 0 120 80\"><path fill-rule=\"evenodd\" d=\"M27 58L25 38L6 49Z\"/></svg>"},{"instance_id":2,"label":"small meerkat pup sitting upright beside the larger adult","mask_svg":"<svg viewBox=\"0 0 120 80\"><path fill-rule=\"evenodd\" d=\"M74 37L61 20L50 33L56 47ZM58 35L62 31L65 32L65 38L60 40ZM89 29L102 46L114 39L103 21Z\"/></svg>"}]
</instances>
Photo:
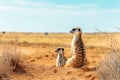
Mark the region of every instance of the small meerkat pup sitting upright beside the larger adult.
<instances>
[{"instance_id":1,"label":"small meerkat pup sitting upright beside the larger adult","mask_svg":"<svg viewBox=\"0 0 120 80\"><path fill-rule=\"evenodd\" d=\"M58 54L56 67L63 67L67 61L66 57L64 56L64 48L57 48L55 52Z\"/></svg>"}]
</instances>

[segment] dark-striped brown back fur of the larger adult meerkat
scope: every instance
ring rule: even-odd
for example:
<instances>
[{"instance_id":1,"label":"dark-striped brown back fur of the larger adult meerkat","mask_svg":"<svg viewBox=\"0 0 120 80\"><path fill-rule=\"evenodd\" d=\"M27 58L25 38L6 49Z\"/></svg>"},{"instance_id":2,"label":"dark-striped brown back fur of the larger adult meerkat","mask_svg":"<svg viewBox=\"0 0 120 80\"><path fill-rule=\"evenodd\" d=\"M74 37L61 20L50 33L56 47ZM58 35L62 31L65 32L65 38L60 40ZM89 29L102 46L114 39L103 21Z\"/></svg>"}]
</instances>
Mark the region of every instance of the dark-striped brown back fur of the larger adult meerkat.
<instances>
[{"instance_id":1,"label":"dark-striped brown back fur of the larger adult meerkat","mask_svg":"<svg viewBox=\"0 0 120 80\"><path fill-rule=\"evenodd\" d=\"M73 63L72 66L75 68L79 68L85 65L85 58L86 58L86 54L85 54L85 48L84 48L84 43L81 39L81 37L78 38L78 40L76 41L75 45L74 45L74 54L76 55L75 58L73 59Z\"/></svg>"}]
</instances>

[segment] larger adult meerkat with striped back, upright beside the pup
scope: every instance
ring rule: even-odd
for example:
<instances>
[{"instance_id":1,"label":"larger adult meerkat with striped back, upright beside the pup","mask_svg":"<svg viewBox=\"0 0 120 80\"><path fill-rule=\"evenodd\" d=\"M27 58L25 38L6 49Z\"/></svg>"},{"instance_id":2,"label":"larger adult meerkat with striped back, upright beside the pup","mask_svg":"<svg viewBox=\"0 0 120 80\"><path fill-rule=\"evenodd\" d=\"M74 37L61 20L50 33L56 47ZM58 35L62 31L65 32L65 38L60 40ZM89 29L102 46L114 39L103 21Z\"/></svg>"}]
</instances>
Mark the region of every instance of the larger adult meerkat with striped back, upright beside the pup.
<instances>
[{"instance_id":1,"label":"larger adult meerkat with striped back, upright beside the pup","mask_svg":"<svg viewBox=\"0 0 120 80\"><path fill-rule=\"evenodd\" d=\"M71 42L71 58L67 61L66 67L72 66L80 68L86 64L86 54L84 43L82 41L82 30L78 27L73 28L70 33L74 34Z\"/></svg>"}]
</instances>

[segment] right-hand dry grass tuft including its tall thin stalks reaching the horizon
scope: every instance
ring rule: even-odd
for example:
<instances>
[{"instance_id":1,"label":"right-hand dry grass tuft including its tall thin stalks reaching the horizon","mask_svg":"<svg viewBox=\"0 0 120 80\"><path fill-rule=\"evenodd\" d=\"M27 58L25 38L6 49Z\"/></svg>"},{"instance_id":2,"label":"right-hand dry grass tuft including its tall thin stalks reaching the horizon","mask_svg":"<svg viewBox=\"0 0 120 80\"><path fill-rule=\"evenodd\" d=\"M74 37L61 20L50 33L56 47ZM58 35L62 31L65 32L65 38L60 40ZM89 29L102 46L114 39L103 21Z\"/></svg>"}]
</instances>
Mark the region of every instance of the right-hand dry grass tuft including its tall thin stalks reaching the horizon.
<instances>
[{"instance_id":1,"label":"right-hand dry grass tuft including its tall thin stalks reaching the horizon","mask_svg":"<svg viewBox=\"0 0 120 80\"><path fill-rule=\"evenodd\" d=\"M100 31L99 29L97 29ZM100 31L102 32L102 31ZM105 32L110 39L113 52L108 54L99 64L97 72L99 80L120 80L120 53L118 52L118 41L115 36Z\"/></svg>"}]
</instances>

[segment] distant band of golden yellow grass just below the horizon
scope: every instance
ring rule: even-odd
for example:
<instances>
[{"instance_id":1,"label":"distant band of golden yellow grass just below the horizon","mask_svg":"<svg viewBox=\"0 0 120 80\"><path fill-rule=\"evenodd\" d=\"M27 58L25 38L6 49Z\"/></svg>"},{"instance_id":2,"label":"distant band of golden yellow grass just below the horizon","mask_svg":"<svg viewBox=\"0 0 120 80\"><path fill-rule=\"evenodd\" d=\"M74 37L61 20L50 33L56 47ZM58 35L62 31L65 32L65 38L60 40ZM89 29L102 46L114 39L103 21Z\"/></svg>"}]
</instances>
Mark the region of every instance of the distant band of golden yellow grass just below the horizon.
<instances>
[{"instance_id":1,"label":"distant band of golden yellow grass just below the horizon","mask_svg":"<svg viewBox=\"0 0 120 80\"><path fill-rule=\"evenodd\" d=\"M50 45L70 45L71 39L73 37L73 35L69 33L50 33L48 35L43 33L0 33L0 40L4 42L12 42L15 40L16 36L20 43ZM114 33L113 36L115 40L119 40L119 33ZM83 34L83 40L86 45L99 45L101 47L110 45L110 37L104 33L86 33ZM93 42L96 44L93 44Z\"/></svg>"}]
</instances>

